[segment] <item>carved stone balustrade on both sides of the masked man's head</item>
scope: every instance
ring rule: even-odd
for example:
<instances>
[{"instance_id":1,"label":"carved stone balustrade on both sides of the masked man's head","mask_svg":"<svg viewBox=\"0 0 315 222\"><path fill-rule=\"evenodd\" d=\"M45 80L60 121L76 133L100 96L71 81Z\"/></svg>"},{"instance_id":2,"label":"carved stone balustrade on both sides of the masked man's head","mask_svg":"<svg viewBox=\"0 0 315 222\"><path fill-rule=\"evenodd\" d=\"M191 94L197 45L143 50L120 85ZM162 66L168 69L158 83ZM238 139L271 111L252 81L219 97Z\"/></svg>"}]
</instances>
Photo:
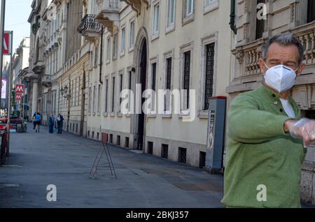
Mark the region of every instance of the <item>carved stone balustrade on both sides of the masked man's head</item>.
<instances>
[{"instance_id":1,"label":"carved stone balustrade on both sides of the masked man's head","mask_svg":"<svg viewBox=\"0 0 315 222\"><path fill-rule=\"evenodd\" d=\"M300 84L308 84L309 81L313 80L309 79L310 75L303 77L303 74L315 74L315 21L287 31L297 37L304 47L303 63L307 66L297 81L300 81ZM262 57L262 46L265 45L266 41L267 38L260 38L246 45L239 45L235 50L232 50L232 54L237 60L235 77L227 89L229 93L247 91L262 80L259 59Z\"/></svg>"}]
</instances>

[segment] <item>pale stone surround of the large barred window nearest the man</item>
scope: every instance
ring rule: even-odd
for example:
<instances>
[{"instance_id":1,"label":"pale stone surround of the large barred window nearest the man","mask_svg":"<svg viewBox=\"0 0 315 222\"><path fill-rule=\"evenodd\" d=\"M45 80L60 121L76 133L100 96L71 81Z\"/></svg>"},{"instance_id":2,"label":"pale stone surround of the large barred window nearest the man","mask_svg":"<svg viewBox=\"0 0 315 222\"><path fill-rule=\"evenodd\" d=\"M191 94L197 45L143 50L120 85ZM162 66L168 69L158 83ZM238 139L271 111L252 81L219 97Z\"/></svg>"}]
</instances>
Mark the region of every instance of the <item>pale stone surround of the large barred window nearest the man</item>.
<instances>
[{"instance_id":1,"label":"pale stone surround of the large barred window nearest the man","mask_svg":"<svg viewBox=\"0 0 315 222\"><path fill-rule=\"evenodd\" d=\"M207 45L214 43L214 86L213 94L216 95L216 82L217 82L217 57L218 57L218 33L206 36L201 39L200 48L200 74L199 74L199 91L198 91L198 117L208 118L208 110L204 110L204 96L205 96L205 82L206 82L206 59L207 59Z\"/></svg>"}]
</instances>

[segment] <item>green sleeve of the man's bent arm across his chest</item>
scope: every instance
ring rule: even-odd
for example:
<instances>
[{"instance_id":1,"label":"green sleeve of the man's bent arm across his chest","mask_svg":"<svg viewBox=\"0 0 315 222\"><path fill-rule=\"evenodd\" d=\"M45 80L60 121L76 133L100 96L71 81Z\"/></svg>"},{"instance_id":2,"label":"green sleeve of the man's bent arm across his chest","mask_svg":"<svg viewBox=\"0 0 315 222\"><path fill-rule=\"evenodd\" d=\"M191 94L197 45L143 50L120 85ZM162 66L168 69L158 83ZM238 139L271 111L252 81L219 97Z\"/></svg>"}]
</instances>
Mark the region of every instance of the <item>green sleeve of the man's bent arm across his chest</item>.
<instances>
[{"instance_id":1,"label":"green sleeve of the man's bent arm across his chest","mask_svg":"<svg viewBox=\"0 0 315 222\"><path fill-rule=\"evenodd\" d=\"M261 143L279 135L287 135L283 124L290 117L259 110L255 98L237 96L228 113L228 133L239 142Z\"/></svg>"}]
</instances>

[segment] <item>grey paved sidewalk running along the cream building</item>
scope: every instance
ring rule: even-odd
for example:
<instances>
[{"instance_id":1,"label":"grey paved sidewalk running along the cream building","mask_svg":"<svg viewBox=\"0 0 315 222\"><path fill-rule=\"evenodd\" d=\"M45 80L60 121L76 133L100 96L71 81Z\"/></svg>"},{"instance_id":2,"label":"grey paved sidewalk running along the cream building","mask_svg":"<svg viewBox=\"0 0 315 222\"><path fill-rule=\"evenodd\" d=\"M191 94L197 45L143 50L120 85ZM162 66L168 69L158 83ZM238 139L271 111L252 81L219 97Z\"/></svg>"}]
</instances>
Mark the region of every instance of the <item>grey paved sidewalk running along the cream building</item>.
<instances>
[{"instance_id":1,"label":"grey paved sidewalk running along the cream building","mask_svg":"<svg viewBox=\"0 0 315 222\"><path fill-rule=\"evenodd\" d=\"M0 207L223 207L223 176L111 146L118 179L90 179L101 143L69 133L11 134ZM48 184L57 202L46 200Z\"/></svg>"}]
</instances>

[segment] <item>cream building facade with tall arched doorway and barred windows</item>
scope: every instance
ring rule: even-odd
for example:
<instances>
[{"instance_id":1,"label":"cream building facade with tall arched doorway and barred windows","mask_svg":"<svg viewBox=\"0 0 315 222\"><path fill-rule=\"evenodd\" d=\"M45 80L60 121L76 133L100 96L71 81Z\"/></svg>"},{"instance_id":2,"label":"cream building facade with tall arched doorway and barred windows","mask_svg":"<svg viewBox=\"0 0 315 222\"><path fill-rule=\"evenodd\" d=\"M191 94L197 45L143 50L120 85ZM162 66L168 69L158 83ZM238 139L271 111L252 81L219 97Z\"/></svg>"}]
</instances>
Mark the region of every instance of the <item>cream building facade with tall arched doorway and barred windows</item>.
<instances>
[{"instance_id":1,"label":"cream building facade with tall arched doorway and barred windows","mask_svg":"<svg viewBox=\"0 0 315 222\"><path fill-rule=\"evenodd\" d=\"M114 145L202 167L207 98L228 95L230 2L83 2L87 9L79 31L91 45L87 138L99 140L102 132L109 133ZM195 89L196 118L184 122L181 114L167 112L123 114L120 91L135 92L137 84L142 86L139 94L144 89ZM186 95L183 110L187 101ZM168 104L165 108L174 110L174 102ZM142 103L132 105L141 110Z\"/></svg>"}]
</instances>

